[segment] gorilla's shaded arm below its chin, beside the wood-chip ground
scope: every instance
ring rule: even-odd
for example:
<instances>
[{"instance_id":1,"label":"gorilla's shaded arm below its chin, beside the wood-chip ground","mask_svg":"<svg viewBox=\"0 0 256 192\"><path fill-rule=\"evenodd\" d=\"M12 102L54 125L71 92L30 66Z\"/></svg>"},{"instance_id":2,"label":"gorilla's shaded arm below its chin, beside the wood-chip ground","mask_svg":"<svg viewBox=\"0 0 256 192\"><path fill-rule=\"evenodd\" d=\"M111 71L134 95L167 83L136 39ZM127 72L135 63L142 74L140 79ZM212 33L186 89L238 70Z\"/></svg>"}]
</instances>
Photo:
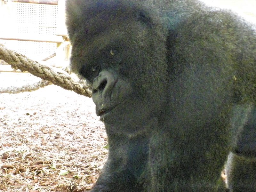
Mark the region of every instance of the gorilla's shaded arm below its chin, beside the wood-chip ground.
<instances>
[{"instance_id":1,"label":"gorilla's shaded arm below its chin, beside the wood-chip ground","mask_svg":"<svg viewBox=\"0 0 256 192\"><path fill-rule=\"evenodd\" d=\"M108 133L108 159L93 192L139 192L148 162L149 135Z\"/></svg>"}]
</instances>

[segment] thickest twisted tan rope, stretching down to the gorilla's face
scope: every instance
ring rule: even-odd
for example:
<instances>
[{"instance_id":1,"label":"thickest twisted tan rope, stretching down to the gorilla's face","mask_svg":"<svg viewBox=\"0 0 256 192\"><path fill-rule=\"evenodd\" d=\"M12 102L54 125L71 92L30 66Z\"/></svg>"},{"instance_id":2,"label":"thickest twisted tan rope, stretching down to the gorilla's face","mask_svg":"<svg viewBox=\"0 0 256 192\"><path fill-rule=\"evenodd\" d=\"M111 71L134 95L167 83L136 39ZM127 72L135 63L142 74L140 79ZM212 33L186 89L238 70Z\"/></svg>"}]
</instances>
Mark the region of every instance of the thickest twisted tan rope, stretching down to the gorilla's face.
<instances>
[{"instance_id":1,"label":"thickest twisted tan rope, stretching down to the gorilla's face","mask_svg":"<svg viewBox=\"0 0 256 192\"><path fill-rule=\"evenodd\" d=\"M92 97L92 92L90 91L90 86L88 86L88 84L79 84L67 74L54 71L48 66L30 60L20 53L7 49L3 44L0 44L0 59L10 64L14 69L28 71L32 75L51 81L53 84L58 85L63 89L74 91L77 94L86 97Z\"/></svg>"}]
</instances>

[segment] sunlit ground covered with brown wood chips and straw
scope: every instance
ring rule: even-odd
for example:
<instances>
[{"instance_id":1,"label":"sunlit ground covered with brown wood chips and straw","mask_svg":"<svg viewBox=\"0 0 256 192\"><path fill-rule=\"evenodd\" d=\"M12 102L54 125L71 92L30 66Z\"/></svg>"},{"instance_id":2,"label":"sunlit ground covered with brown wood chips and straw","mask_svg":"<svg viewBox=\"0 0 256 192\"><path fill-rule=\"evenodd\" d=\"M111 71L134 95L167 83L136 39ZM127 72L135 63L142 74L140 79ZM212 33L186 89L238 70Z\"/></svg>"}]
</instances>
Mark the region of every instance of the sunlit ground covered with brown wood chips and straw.
<instances>
[{"instance_id":1,"label":"sunlit ground covered with brown wood chips and straw","mask_svg":"<svg viewBox=\"0 0 256 192\"><path fill-rule=\"evenodd\" d=\"M39 80L1 73L1 87ZM91 98L49 85L0 95L0 191L89 190L106 160L107 136Z\"/></svg>"}]
</instances>

